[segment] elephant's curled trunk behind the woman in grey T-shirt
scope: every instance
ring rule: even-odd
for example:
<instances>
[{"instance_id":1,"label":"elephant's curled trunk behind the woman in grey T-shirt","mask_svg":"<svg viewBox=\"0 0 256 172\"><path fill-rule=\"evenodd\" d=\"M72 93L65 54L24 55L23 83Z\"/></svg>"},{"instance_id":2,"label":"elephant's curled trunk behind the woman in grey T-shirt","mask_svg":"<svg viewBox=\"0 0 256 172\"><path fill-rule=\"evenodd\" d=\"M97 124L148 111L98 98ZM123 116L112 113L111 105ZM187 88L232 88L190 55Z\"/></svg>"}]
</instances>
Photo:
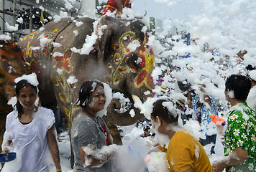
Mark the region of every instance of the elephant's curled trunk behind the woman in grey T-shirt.
<instances>
[{"instance_id":1,"label":"elephant's curled trunk behind the woman in grey T-shirt","mask_svg":"<svg viewBox=\"0 0 256 172\"><path fill-rule=\"evenodd\" d=\"M107 108L107 115L104 116L104 120L114 123L116 125L127 126L137 123L138 121L145 118L145 116L140 113L140 110L138 108L135 108L133 104L131 108L124 113L118 112L119 107L120 105L118 100L111 100L111 103ZM134 117L131 116L130 110L134 110Z\"/></svg>"}]
</instances>

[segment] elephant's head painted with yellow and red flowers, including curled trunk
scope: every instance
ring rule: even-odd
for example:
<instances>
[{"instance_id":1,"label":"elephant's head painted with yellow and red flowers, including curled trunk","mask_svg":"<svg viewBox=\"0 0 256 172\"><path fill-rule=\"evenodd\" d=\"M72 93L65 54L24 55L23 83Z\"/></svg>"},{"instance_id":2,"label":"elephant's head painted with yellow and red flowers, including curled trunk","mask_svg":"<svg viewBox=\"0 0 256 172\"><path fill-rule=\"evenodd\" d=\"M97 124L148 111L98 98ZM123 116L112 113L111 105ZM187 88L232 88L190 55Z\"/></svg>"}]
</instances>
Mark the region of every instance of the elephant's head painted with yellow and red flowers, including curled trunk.
<instances>
[{"instance_id":1,"label":"elephant's head painted with yellow and red flowers, including curled trunk","mask_svg":"<svg viewBox=\"0 0 256 172\"><path fill-rule=\"evenodd\" d=\"M95 49L99 62L108 68L108 75L104 76L104 80L114 91L123 92L130 100L131 95L137 95L145 101L149 96L145 92L154 88L151 73L155 62L152 49L147 46L147 32L142 32L145 24L136 19L125 21L106 16L101 19L97 29L102 35L97 39ZM115 102L116 100L112 101L113 104ZM143 118L140 110L134 108L134 103L130 108L135 110L133 118L129 110L118 113L113 104L109 105L106 116L112 123L131 125Z\"/></svg>"}]
</instances>

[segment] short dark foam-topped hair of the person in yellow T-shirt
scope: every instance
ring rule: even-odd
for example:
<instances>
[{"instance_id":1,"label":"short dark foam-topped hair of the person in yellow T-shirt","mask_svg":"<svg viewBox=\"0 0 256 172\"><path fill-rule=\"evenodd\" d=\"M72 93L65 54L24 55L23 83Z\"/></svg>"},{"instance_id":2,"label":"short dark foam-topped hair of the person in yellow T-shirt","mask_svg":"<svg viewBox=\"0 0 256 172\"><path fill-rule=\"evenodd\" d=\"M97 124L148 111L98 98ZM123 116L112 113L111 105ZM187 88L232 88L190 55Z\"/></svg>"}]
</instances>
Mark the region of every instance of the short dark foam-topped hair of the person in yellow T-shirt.
<instances>
[{"instance_id":1,"label":"short dark foam-topped hair of the person in yellow T-shirt","mask_svg":"<svg viewBox=\"0 0 256 172\"><path fill-rule=\"evenodd\" d=\"M176 108L172 112L167 107L163 106L163 102L173 102L168 100L157 100L153 104L153 111L151 113L152 118L155 120L158 117L165 120L165 123L177 123L178 124L178 109Z\"/></svg>"}]
</instances>

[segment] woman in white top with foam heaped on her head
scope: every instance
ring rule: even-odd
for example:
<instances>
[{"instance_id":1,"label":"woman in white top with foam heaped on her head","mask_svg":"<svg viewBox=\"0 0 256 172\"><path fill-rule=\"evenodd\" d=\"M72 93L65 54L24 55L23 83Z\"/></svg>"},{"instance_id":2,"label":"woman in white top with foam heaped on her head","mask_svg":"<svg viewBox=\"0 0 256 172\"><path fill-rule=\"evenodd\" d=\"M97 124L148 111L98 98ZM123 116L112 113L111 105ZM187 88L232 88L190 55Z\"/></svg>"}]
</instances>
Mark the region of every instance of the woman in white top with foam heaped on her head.
<instances>
[{"instance_id":1,"label":"woman in white top with foam heaped on her head","mask_svg":"<svg viewBox=\"0 0 256 172\"><path fill-rule=\"evenodd\" d=\"M55 117L52 110L35 105L38 93L37 84L35 73L18 78L17 103L14 110L6 117L6 130L2 145L4 155L14 151L17 153L17 158L14 162L6 163L2 169L3 172L48 172L51 163L50 154L56 171L61 171L55 136Z\"/></svg>"}]
</instances>

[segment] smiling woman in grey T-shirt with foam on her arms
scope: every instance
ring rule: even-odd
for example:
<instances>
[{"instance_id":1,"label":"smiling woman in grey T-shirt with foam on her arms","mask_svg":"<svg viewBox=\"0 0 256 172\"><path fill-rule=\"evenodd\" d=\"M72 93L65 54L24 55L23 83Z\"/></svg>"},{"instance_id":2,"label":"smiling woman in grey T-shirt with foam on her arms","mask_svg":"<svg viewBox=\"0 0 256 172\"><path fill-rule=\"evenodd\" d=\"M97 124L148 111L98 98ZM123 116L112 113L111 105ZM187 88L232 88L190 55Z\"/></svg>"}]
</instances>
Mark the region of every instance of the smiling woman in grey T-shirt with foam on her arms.
<instances>
[{"instance_id":1,"label":"smiling woman in grey T-shirt with foam on her arms","mask_svg":"<svg viewBox=\"0 0 256 172\"><path fill-rule=\"evenodd\" d=\"M116 145L109 149L113 139L109 128L97 113L104 109L104 85L96 80L83 82L77 106L81 107L71 129L71 142L75 156L74 171L112 171L111 158ZM105 146L105 147L104 147Z\"/></svg>"}]
</instances>

